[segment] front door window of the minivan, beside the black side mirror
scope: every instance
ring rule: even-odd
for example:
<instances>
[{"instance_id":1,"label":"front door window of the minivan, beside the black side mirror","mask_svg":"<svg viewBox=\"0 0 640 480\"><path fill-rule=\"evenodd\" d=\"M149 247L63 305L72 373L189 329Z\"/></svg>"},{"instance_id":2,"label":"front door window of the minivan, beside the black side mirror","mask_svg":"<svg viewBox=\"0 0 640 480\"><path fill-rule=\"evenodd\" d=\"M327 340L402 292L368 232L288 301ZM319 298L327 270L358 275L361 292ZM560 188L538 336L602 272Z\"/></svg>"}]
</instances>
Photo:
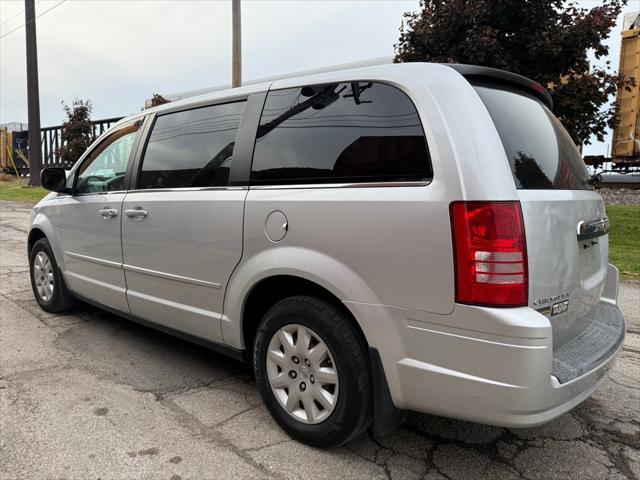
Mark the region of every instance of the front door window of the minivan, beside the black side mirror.
<instances>
[{"instance_id":1,"label":"front door window of the minivan, beside the black side mirror","mask_svg":"<svg viewBox=\"0 0 640 480\"><path fill-rule=\"evenodd\" d=\"M78 169L76 194L124 189L127 164L141 124L136 122L113 132L89 154Z\"/></svg>"}]
</instances>

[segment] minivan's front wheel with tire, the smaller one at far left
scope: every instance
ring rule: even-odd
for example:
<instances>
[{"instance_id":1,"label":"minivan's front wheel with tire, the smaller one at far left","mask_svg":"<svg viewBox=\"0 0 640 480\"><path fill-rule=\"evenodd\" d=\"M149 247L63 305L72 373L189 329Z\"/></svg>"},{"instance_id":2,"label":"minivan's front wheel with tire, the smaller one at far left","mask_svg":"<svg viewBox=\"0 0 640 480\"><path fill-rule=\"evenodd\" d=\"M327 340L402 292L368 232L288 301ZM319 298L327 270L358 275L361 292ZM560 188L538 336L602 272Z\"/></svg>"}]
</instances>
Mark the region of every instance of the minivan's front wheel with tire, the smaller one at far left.
<instances>
[{"instance_id":1,"label":"minivan's front wheel with tire, the smaller one at far left","mask_svg":"<svg viewBox=\"0 0 640 480\"><path fill-rule=\"evenodd\" d=\"M33 295L40 308L46 312L60 313L73 307L75 301L64 283L53 250L46 238L39 239L31 247L29 272Z\"/></svg>"}]
</instances>

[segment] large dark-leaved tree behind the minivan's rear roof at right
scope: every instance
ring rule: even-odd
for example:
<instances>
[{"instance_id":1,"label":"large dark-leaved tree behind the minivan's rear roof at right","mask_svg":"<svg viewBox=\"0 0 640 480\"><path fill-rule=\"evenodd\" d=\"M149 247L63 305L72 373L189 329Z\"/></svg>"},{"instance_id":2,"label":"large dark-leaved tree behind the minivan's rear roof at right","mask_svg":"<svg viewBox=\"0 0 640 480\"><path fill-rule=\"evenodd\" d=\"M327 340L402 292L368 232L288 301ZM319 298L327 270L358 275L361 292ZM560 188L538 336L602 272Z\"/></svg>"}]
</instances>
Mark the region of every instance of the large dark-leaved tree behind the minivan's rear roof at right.
<instances>
[{"instance_id":1,"label":"large dark-leaved tree behind the minivan's rear roof at right","mask_svg":"<svg viewBox=\"0 0 640 480\"><path fill-rule=\"evenodd\" d=\"M546 86L554 112L574 141L602 141L617 121L609 101L621 79L610 62L589 65L587 54L606 57L603 43L626 0L591 9L566 0L421 0L404 15L395 45L397 62L469 63L500 68Z\"/></svg>"}]
</instances>

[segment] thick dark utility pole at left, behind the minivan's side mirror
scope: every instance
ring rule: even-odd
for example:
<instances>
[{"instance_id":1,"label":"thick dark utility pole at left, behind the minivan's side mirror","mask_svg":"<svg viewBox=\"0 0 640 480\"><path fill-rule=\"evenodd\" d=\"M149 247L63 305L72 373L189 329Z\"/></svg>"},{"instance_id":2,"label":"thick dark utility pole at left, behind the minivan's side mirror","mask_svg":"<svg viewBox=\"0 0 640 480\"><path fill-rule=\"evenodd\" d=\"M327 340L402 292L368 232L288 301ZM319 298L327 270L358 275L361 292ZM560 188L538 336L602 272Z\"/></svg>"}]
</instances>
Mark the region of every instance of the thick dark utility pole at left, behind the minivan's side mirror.
<instances>
[{"instance_id":1,"label":"thick dark utility pole at left, behind the minivan's side mirror","mask_svg":"<svg viewBox=\"0 0 640 480\"><path fill-rule=\"evenodd\" d=\"M36 43L36 7L24 0L27 35L27 105L29 113L29 185L40 185L42 148L40 142L40 90L38 88L38 46Z\"/></svg>"}]
</instances>

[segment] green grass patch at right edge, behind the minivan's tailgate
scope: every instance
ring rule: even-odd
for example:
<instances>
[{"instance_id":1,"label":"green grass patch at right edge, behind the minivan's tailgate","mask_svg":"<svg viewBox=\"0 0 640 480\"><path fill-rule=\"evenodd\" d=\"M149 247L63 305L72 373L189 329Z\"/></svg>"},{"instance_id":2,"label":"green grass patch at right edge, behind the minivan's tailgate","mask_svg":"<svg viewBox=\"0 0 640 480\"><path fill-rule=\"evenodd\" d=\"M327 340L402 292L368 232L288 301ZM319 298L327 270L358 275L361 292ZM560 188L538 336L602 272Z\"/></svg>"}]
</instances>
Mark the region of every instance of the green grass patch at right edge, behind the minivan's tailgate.
<instances>
[{"instance_id":1,"label":"green grass patch at right edge, behind the minivan's tailgate","mask_svg":"<svg viewBox=\"0 0 640 480\"><path fill-rule=\"evenodd\" d=\"M609 262L626 278L640 279L640 206L607 205Z\"/></svg>"}]
</instances>

